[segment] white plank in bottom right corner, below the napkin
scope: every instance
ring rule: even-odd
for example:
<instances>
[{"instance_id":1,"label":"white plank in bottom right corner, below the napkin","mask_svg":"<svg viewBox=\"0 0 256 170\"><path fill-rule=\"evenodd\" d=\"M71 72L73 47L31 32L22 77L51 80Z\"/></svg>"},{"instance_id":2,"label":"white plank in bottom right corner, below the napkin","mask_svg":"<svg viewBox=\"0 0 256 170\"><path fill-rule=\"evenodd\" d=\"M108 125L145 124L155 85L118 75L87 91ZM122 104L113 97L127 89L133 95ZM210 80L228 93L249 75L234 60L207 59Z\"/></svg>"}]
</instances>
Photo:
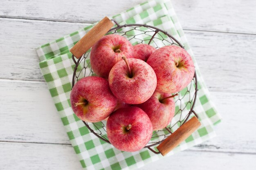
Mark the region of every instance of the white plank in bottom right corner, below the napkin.
<instances>
[{"instance_id":1,"label":"white plank in bottom right corner, below the napkin","mask_svg":"<svg viewBox=\"0 0 256 170\"><path fill-rule=\"evenodd\" d=\"M139 170L240 170L253 169L256 155L222 152L179 152L149 163Z\"/></svg>"}]
</instances>

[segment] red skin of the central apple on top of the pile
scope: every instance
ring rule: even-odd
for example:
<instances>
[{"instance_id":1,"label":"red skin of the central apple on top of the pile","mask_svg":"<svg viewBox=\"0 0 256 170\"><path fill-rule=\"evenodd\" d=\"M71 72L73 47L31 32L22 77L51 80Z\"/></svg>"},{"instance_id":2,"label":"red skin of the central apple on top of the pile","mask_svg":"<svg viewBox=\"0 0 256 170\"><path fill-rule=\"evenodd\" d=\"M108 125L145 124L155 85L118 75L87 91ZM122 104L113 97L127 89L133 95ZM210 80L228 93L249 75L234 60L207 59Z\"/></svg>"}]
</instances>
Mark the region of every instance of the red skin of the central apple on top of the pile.
<instances>
[{"instance_id":1,"label":"red skin of the central apple on top of the pile","mask_svg":"<svg viewBox=\"0 0 256 170\"><path fill-rule=\"evenodd\" d=\"M108 81L112 93L117 99L127 104L141 104L153 95L157 77L154 70L144 61L136 58L128 58L128 64L132 72L129 77L126 62L119 61L111 69Z\"/></svg>"}]
</instances>

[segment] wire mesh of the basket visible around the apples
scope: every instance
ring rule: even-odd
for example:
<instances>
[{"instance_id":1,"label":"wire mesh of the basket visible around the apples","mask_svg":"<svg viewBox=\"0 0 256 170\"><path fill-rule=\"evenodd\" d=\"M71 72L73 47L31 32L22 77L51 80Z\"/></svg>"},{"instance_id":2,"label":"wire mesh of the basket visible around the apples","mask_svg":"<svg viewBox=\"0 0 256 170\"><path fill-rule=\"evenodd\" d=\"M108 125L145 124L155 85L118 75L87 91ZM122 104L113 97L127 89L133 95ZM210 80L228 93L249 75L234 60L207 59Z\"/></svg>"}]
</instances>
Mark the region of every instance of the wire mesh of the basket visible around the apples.
<instances>
[{"instance_id":1,"label":"wire mesh of the basket visible around the apples","mask_svg":"<svg viewBox=\"0 0 256 170\"><path fill-rule=\"evenodd\" d=\"M117 27L113 31L107 34L119 34L126 37L132 45L136 44L150 44L156 49L161 48L166 45L178 45L171 37L166 35L166 32L159 31L157 29L149 28L147 26L124 26ZM90 66L90 50L87 51L79 60L75 75L74 83L85 76L94 75L92 68ZM195 101L196 94L196 78L194 77L191 83L178 93L174 97L175 101L175 116L173 117L171 123L162 130L157 130L153 132L151 140L145 147L155 146L160 144L166 137L171 135L177 128L179 128L193 113L191 110L193 102ZM103 139L108 140L106 133L106 121L100 121L97 123L84 122L91 131L93 130L95 134L99 135Z\"/></svg>"}]
</instances>

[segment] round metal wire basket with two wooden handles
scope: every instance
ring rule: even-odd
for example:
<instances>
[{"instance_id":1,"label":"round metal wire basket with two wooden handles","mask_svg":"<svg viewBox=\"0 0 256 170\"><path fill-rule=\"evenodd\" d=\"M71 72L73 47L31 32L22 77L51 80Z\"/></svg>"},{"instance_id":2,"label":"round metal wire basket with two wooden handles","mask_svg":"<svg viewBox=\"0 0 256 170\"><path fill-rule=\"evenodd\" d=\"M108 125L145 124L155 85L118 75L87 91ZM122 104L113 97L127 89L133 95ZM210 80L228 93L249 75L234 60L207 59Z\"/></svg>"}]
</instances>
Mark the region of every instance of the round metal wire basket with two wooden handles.
<instances>
[{"instance_id":1,"label":"round metal wire basket with two wooden handles","mask_svg":"<svg viewBox=\"0 0 256 170\"><path fill-rule=\"evenodd\" d=\"M104 18L105 19L105 18ZM103 20L104 20L103 19ZM102 22L102 21L101 21ZM166 46L166 45L177 45L182 46L180 42L178 42L175 38L173 38L172 35L168 34L166 31L163 31L161 29L158 29L155 26L149 26L146 24L124 24L124 25L119 25L115 20L111 20L110 22L115 22L117 26L112 27L110 24L109 27L111 29L108 29L109 27L104 27L103 29L105 30L102 31L102 23L99 22L94 28L91 30L91 32L97 33L99 35L96 39L94 39L94 42L97 42L99 38L101 38L105 33L106 34L119 34L121 36L126 37L133 45L135 44L150 44L151 46L154 46L156 49ZM109 22L108 22L109 23ZM102 31L102 32L101 32ZM100 33L99 33L100 32ZM88 35L87 33L86 35ZM75 63L75 68L74 68L74 74L72 78L72 87L74 84L81 78L85 76L92 76L94 75L92 69L90 68L90 47L94 44L94 42L88 43L88 37L86 38L83 37L81 40L85 43L78 43L78 46L76 49L71 49L70 51L73 53L72 59ZM87 41L87 42L86 42ZM82 44L84 46L87 46L86 48L83 48L81 51L81 46ZM88 45L89 44L89 45ZM75 46L74 46L75 47ZM77 52L79 51L79 52ZM78 60L75 59L78 58ZM175 116L173 117L171 123L164 129L162 130L157 130L153 132L153 136L151 140L148 142L148 144L144 148L148 148L155 154L162 153L161 150L157 147L157 150L155 150L156 145L161 144L162 141L164 141L166 138L170 137L173 132L177 133L182 133L182 129L180 127L183 127L185 122L187 122L192 115L195 115L195 117L198 117L193 110L195 106L195 100L196 100L196 95L197 95L197 79L196 79L196 73L193 77L193 80L191 83L184 88L182 91L178 93L178 95L174 98L175 100ZM97 123L89 123L83 121L85 126L92 132L94 135L102 139L103 141L106 141L107 143L110 144L108 141L107 133L106 133L106 121L100 121ZM194 124L195 122L191 122ZM188 124L188 123L187 123ZM199 122L200 124L200 122ZM199 125L198 125L199 126ZM198 128L198 126L196 128ZM185 126L184 126L185 127ZM187 128L187 127L186 127ZM193 129L196 130L196 128ZM192 132L187 132L188 130L185 130L184 132L186 133L186 137L191 135ZM183 134L181 134L183 135ZM185 137L184 135L182 136L183 138ZM181 137L181 138L182 138ZM181 139L182 141L184 139ZM181 141L179 141L180 143ZM152 148L154 147L154 148ZM169 151L169 150L168 150ZM162 153L162 155L164 155Z\"/></svg>"}]
</instances>

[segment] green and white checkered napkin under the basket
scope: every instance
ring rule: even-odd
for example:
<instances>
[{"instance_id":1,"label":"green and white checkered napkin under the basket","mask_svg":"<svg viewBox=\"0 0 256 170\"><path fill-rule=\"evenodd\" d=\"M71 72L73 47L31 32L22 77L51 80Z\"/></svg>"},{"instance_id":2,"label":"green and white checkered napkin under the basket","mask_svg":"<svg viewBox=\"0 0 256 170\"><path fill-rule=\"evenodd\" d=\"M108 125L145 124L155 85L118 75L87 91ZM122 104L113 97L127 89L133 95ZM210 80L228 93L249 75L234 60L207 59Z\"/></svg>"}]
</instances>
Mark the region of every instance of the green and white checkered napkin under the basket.
<instances>
[{"instance_id":1,"label":"green and white checkered napkin under the basket","mask_svg":"<svg viewBox=\"0 0 256 170\"><path fill-rule=\"evenodd\" d=\"M159 29L167 31L180 41L193 57L193 53L184 36L182 27L177 20L171 2L168 0L150 0L124 11L113 18L120 24L144 23L157 26ZM70 106L74 62L71 58L72 54L68 49L74 46L93 25L94 24L40 46L37 49L41 71L82 167L96 170L135 169L144 166L144 164L148 162L161 159L162 155L155 155L147 149L132 153L121 152L115 149L112 145L90 133L83 122L74 115ZM145 35L141 36L141 38L145 40ZM132 42L132 44L137 43L136 41ZM194 57L193 60L195 62ZM202 126L168 155L172 155L180 150L185 150L214 137L215 132L213 125L220 122L221 119L209 98L209 91L204 84L196 62L195 68L199 90L194 110L199 115ZM181 94L186 97L187 94L185 92L186 90L184 94L183 91ZM184 107L185 110L189 109L188 103L180 103L180 106ZM178 108L176 108L176 111ZM177 115L179 115L179 113ZM172 122L176 122L178 120L177 117L178 116L175 115Z\"/></svg>"}]
</instances>

